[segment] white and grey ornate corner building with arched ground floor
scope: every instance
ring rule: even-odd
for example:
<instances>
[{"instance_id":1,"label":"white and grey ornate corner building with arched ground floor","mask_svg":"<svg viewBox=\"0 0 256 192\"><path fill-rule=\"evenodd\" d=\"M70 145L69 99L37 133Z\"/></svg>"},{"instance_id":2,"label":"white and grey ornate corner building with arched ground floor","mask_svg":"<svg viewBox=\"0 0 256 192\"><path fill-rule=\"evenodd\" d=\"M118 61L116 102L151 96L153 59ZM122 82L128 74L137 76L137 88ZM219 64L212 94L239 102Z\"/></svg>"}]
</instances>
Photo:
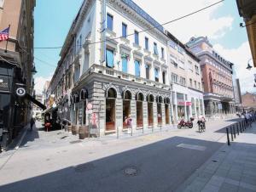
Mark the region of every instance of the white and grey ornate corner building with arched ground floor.
<instances>
[{"instance_id":1,"label":"white and grey ornate corner building with arched ground floor","mask_svg":"<svg viewBox=\"0 0 256 192\"><path fill-rule=\"evenodd\" d=\"M90 103L101 135L125 131L127 116L136 129L170 124L167 41L160 24L130 0L84 1L48 95L76 125L90 125Z\"/></svg>"}]
</instances>

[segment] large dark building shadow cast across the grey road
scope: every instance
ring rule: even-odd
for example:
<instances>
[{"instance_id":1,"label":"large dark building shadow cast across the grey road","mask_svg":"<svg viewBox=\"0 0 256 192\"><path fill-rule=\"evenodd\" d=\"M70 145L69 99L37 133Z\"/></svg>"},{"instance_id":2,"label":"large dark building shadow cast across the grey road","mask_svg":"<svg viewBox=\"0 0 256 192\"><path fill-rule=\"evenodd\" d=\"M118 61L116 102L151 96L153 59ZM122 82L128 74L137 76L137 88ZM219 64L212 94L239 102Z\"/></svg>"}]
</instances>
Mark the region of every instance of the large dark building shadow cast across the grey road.
<instances>
[{"instance_id":1,"label":"large dark building shadow cast across the grey road","mask_svg":"<svg viewBox=\"0 0 256 192\"><path fill-rule=\"evenodd\" d=\"M172 191L222 145L193 138L167 138L76 167L6 184L0 186L0 191Z\"/></svg>"}]
</instances>

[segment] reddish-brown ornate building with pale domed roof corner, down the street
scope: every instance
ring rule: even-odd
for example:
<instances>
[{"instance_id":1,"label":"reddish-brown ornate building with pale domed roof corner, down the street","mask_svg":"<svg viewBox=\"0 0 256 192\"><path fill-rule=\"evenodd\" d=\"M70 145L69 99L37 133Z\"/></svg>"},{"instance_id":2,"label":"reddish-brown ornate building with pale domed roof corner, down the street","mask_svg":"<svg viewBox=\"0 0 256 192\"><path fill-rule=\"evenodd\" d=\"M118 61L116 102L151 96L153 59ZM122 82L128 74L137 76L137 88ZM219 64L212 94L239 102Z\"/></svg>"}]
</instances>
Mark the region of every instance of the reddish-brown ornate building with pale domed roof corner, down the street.
<instances>
[{"instance_id":1,"label":"reddish-brown ornate building with pale domed roof corner, down the street","mask_svg":"<svg viewBox=\"0 0 256 192\"><path fill-rule=\"evenodd\" d=\"M206 115L234 114L233 64L212 48L207 37L191 37L186 45L201 59Z\"/></svg>"}]
</instances>

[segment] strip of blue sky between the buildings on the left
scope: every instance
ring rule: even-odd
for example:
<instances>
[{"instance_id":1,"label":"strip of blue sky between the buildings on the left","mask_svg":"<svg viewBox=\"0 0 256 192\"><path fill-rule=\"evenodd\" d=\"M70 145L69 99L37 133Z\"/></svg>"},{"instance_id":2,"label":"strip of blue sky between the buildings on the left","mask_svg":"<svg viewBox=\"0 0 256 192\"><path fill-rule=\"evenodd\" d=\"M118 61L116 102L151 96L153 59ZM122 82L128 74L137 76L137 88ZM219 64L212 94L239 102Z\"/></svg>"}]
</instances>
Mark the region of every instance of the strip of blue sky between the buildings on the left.
<instances>
[{"instance_id":1,"label":"strip of blue sky between the buildings on the left","mask_svg":"<svg viewBox=\"0 0 256 192\"><path fill-rule=\"evenodd\" d=\"M62 46L82 0L38 0L35 8L34 47ZM49 77L55 71L61 49L35 49L36 76Z\"/></svg>"}]
</instances>

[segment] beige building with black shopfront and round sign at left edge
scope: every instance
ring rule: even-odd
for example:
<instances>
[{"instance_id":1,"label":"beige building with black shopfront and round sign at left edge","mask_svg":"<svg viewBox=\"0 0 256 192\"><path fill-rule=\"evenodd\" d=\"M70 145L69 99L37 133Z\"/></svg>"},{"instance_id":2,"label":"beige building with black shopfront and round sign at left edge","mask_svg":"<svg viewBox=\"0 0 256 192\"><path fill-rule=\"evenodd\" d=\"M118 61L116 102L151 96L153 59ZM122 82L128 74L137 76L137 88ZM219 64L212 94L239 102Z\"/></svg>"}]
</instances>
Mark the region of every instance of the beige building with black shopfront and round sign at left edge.
<instances>
[{"instance_id":1,"label":"beige building with black shopfront and round sign at left edge","mask_svg":"<svg viewBox=\"0 0 256 192\"><path fill-rule=\"evenodd\" d=\"M1 0L0 31L9 28L9 40L0 42L0 135L9 144L32 116L26 97L33 93L33 9L35 0ZM21 90L18 92L18 89ZM1 112L2 113L2 112Z\"/></svg>"}]
</instances>

